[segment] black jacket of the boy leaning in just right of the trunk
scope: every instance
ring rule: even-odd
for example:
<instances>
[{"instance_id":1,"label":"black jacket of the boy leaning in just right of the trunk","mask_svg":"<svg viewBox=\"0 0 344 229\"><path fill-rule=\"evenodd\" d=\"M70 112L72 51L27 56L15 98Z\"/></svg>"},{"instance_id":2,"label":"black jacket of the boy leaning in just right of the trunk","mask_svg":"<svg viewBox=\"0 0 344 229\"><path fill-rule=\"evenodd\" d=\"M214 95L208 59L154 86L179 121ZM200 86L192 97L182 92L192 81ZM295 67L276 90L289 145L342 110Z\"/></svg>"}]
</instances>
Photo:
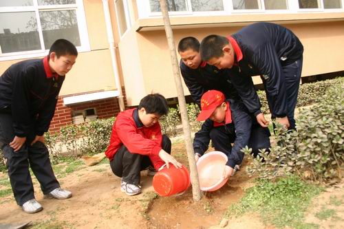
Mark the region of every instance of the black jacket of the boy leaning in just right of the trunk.
<instances>
[{"instance_id":1,"label":"black jacket of the boy leaning in just right of the trunk","mask_svg":"<svg viewBox=\"0 0 344 229\"><path fill-rule=\"evenodd\" d=\"M211 89L221 91L226 98L239 98L237 90L228 78L227 69L219 70L208 64L204 67L200 65L197 69L191 69L180 60L180 72L186 87L189 88L191 97L198 106L200 106L204 92Z\"/></svg>"}]
</instances>

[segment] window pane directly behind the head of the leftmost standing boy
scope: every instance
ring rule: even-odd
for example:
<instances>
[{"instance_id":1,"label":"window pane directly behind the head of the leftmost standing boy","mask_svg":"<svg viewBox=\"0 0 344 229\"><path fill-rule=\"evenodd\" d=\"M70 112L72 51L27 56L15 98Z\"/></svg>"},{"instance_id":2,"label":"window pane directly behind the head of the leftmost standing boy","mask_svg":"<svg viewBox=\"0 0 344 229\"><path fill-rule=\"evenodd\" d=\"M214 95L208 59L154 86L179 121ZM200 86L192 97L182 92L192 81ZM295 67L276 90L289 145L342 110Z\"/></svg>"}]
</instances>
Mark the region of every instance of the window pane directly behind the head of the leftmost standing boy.
<instances>
[{"instance_id":1,"label":"window pane directly behind the head of the leftmost standing boy","mask_svg":"<svg viewBox=\"0 0 344 229\"><path fill-rule=\"evenodd\" d=\"M39 12L41 19L45 50L59 39L67 39L80 46L78 21L75 10L54 10Z\"/></svg>"}]
</instances>

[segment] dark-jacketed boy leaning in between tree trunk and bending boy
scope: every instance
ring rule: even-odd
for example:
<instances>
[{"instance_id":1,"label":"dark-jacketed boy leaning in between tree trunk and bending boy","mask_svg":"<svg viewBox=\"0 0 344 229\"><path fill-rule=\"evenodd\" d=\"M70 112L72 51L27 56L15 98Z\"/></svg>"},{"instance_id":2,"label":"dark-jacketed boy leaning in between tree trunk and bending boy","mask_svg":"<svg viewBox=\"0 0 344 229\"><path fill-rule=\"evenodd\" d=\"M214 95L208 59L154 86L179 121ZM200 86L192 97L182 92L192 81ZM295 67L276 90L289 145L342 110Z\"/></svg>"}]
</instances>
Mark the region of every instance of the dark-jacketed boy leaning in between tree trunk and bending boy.
<instances>
[{"instance_id":1,"label":"dark-jacketed boy leaning in between tree trunk and bending boy","mask_svg":"<svg viewBox=\"0 0 344 229\"><path fill-rule=\"evenodd\" d=\"M222 91L226 98L239 98L237 90L228 78L227 69L217 69L202 61L200 42L192 36L184 37L178 43L180 54L180 72L188 87L193 101L200 106L204 92L215 89Z\"/></svg>"}]
</instances>

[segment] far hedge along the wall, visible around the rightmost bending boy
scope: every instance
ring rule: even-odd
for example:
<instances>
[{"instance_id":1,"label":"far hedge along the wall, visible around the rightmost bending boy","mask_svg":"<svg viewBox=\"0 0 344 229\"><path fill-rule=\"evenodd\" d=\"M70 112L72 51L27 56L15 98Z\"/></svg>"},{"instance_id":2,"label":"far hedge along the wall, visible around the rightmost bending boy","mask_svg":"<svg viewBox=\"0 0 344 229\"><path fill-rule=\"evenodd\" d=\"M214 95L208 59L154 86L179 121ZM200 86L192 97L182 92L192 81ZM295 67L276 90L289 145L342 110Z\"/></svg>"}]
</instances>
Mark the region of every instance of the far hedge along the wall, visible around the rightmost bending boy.
<instances>
[{"instance_id":1,"label":"far hedge along the wall, visible around the rightmost bending boy","mask_svg":"<svg viewBox=\"0 0 344 229\"><path fill-rule=\"evenodd\" d=\"M323 80L315 83L305 83L300 85L299 96L297 97L297 107L312 105L318 98L326 93L327 89L337 85L341 81L343 81L341 78L336 78L332 80ZM261 111L263 113L270 113L265 91L259 90L257 91L257 94L259 96L259 100L261 101Z\"/></svg>"}]
</instances>

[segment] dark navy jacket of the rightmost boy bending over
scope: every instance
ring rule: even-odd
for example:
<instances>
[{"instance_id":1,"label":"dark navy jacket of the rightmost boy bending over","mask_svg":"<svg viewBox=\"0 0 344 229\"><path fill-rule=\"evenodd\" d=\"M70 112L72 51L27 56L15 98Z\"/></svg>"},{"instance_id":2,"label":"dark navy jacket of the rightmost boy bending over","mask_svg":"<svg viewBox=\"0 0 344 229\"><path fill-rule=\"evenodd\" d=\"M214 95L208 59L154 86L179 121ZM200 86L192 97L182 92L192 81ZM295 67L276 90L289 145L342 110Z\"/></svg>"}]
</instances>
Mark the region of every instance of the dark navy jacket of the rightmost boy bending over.
<instances>
[{"instance_id":1,"label":"dark navy jacket of the rightmost boy bending over","mask_svg":"<svg viewBox=\"0 0 344 229\"><path fill-rule=\"evenodd\" d=\"M303 54L303 45L290 30L273 23L254 23L232 35L243 58L229 70L230 80L250 113L260 113L260 102L250 76L263 76L272 101L272 116L287 114L283 65L290 65ZM236 58L236 57L235 57Z\"/></svg>"}]
</instances>

